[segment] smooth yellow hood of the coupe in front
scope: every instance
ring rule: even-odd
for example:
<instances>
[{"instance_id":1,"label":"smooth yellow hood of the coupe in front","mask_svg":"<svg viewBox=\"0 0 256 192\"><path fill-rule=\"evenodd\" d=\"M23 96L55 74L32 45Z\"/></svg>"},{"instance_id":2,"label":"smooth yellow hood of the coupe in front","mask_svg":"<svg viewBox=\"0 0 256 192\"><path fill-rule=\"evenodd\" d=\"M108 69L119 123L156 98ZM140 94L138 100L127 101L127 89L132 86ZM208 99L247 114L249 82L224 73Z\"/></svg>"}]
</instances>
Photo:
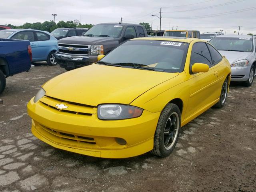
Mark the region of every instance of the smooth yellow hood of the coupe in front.
<instances>
[{"instance_id":1,"label":"smooth yellow hood of the coupe in front","mask_svg":"<svg viewBox=\"0 0 256 192\"><path fill-rule=\"evenodd\" d=\"M178 74L92 64L56 76L42 87L47 96L68 102L130 104Z\"/></svg>"}]
</instances>

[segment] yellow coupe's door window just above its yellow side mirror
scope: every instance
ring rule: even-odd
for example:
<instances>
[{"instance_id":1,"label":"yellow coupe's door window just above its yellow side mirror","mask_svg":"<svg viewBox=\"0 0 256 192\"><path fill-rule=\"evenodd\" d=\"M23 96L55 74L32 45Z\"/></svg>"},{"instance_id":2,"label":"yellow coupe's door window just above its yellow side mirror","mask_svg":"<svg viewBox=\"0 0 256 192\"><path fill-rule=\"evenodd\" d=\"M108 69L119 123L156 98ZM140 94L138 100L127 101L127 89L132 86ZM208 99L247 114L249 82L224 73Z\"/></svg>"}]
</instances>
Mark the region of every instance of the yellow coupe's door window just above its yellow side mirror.
<instances>
[{"instance_id":1,"label":"yellow coupe's door window just above its yellow side mirror","mask_svg":"<svg viewBox=\"0 0 256 192\"><path fill-rule=\"evenodd\" d=\"M193 45L190 66L194 65L194 63L204 63L211 66L211 60L210 52L204 42L198 42Z\"/></svg>"}]
</instances>

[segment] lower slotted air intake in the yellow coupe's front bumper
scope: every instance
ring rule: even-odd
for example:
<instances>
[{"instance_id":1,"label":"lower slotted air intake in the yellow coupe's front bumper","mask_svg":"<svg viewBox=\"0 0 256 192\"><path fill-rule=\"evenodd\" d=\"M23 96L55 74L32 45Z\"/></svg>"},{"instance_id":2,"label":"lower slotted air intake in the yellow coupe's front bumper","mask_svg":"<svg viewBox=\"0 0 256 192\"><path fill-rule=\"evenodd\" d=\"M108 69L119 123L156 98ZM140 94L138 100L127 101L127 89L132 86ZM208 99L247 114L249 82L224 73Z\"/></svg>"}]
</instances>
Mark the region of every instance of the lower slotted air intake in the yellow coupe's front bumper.
<instances>
[{"instance_id":1,"label":"lower slotted air intake in the yellow coupe's front bumper","mask_svg":"<svg viewBox=\"0 0 256 192\"><path fill-rule=\"evenodd\" d=\"M70 133L65 133L65 132L60 132L58 130L54 130L54 129L50 129L46 126L43 126L41 124L40 128L42 128L44 131L52 134L52 136L56 136L60 139L64 139L64 140L70 140L73 142L83 142L83 143L88 143L88 144L96 144L96 142L94 141L94 138L91 137L85 137L85 136L80 136L80 135L76 135L76 134L70 134Z\"/></svg>"}]
</instances>

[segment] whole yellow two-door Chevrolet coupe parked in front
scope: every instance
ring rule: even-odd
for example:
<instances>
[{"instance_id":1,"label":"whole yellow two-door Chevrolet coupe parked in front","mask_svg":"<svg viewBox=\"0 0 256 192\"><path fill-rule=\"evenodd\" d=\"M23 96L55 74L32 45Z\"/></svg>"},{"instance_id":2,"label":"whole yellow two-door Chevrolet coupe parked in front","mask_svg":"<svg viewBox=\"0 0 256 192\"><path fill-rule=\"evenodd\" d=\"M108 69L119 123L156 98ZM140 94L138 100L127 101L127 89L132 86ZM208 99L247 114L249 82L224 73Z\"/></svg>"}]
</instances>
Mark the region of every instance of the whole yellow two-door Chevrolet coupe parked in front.
<instances>
[{"instance_id":1,"label":"whole yellow two-door Chevrolet coupe parked in front","mask_svg":"<svg viewBox=\"0 0 256 192\"><path fill-rule=\"evenodd\" d=\"M28 103L32 133L102 158L168 156L180 128L224 106L230 63L195 38L136 38L56 76Z\"/></svg>"}]
</instances>

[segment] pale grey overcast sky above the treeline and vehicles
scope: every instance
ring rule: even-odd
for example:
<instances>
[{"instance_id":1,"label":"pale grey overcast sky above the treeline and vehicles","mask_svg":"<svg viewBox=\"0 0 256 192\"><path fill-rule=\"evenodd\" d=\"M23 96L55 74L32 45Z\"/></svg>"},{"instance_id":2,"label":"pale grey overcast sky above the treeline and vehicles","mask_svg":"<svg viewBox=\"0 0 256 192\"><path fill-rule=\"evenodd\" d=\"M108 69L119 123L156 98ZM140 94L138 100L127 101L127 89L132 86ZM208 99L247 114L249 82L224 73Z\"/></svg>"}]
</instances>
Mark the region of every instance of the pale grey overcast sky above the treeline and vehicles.
<instances>
[{"instance_id":1,"label":"pale grey overcast sky above the treeline and vehicles","mask_svg":"<svg viewBox=\"0 0 256 192\"><path fill-rule=\"evenodd\" d=\"M0 24L80 20L102 22L153 23L162 30L193 29L200 32L223 30L226 34L256 34L256 0L0 0ZM233 14L228 14L233 12ZM235 13L234 13L235 12ZM234 33L236 31L236 33Z\"/></svg>"}]
</instances>

